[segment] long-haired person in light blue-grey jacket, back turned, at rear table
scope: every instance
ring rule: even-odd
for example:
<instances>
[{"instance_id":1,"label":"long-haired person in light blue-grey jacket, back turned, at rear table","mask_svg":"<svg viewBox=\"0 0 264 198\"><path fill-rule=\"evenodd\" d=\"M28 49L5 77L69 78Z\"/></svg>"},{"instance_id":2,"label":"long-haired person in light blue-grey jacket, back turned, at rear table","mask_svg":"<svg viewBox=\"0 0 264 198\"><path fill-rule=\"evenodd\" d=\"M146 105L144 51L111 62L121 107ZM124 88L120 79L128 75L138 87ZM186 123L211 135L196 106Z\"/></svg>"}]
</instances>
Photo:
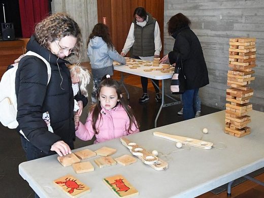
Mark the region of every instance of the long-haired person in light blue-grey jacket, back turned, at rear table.
<instances>
[{"instance_id":1,"label":"long-haired person in light blue-grey jacket, back turned, at rear table","mask_svg":"<svg viewBox=\"0 0 264 198\"><path fill-rule=\"evenodd\" d=\"M111 41L109 28L104 23L97 23L87 42L87 55L90 59L93 76L92 103L96 103L97 89L102 78L113 75L113 61L125 64L125 58L116 50Z\"/></svg>"}]
</instances>

